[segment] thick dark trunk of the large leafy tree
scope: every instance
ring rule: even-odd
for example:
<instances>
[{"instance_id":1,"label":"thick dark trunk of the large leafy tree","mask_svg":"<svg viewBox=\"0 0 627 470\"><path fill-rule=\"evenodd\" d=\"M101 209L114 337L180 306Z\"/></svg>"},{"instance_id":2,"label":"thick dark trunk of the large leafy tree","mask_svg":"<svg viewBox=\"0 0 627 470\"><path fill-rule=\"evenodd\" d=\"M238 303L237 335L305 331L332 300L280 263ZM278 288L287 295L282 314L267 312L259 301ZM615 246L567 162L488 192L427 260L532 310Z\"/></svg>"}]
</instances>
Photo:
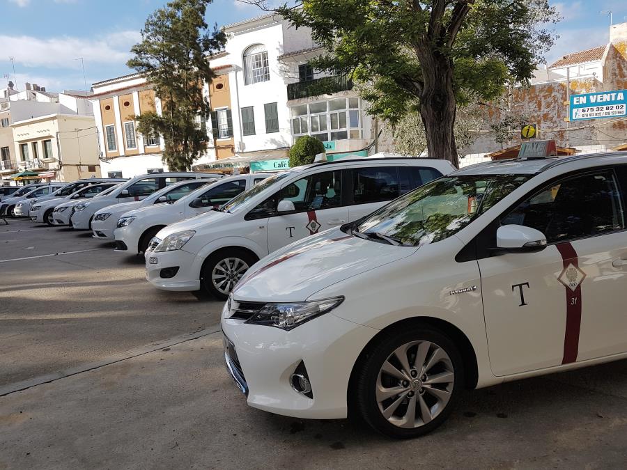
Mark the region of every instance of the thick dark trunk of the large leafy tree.
<instances>
[{"instance_id":1,"label":"thick dark trunk of the large leafy tree","mask_svg":"<svg viewBox=\"0 0 627 470\"><path fill-rule=\"evenodd\" d=\"M420 117L426 132L429 158L447 159L458 168L453 132L456 113L453 68L448 58L425 55L428 55L427 60L421 58L424 88L420 97Z\"/></svg>"}]
</instances>

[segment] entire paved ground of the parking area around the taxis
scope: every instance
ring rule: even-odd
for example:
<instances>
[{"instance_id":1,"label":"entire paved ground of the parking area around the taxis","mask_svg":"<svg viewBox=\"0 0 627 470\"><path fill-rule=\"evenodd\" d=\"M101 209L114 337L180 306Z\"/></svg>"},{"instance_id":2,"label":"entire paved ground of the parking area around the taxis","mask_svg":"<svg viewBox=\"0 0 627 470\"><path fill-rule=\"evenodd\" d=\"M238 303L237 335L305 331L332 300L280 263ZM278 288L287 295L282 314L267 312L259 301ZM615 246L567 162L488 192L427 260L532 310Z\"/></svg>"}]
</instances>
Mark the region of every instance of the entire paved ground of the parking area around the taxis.
<instances>
[{"instance_id":1,"label":"entire paved ground of the parking area around the taxis","mask_svg":"<svg viewBox=\"0 0 627 470\"><path fill-rule=\"evenodd\" d=\"M31 244L2 246L0 259L38 244L48 253L101 246L61 229L26 234ZM15 238L3 233L0 244L6 240ZM437 432L390 441L359 423L247 407L211 332L219 305L150 290L141 265L117 254L0 263L5 388L55 367L95 367L0 397L0 469L626 466L627 361L466 393ZM8 330L22 340L7 338ZM175 339L158 343L166 338ZM107 358L116 362L93 364Z\"/></svg>"}]
</instances>

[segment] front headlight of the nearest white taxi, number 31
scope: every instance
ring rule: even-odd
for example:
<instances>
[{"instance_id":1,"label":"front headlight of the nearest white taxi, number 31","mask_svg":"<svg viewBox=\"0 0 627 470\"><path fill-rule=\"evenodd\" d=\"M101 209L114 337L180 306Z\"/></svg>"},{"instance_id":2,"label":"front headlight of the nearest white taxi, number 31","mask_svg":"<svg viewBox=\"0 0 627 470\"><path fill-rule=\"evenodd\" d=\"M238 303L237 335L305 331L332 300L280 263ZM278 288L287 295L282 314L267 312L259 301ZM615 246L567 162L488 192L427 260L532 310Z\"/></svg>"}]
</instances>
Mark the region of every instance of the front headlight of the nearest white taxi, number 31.
<instances>
[{"instance_id":1,"label":"front headlight of the nearest white taxi, number 31","mask_svg":"<svg viewBox=\"0 0 627 470\"><path fill-rule=\"evenodd\" d=\"M332 311L336 306L339 306L343 300L344 297L332 297L331 299L312 300L308 302L265 304L260 311L255 313L246 322L291 330L304 322L308 322L309 320Z\"/></svg>"}]
</instances>

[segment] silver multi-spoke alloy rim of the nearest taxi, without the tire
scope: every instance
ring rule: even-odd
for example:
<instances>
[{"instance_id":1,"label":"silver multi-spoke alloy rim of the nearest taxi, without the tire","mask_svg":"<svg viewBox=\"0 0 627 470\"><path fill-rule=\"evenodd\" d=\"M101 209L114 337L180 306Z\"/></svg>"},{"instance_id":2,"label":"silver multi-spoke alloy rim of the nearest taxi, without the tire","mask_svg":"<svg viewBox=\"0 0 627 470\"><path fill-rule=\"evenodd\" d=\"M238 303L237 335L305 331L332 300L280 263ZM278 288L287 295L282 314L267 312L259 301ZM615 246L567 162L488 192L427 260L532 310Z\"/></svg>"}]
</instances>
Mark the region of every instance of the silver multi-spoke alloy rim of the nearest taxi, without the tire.
<instances>
[{"instance_id":1,"label":"silver multi-spoke alloy rim of the nearest taxi, without the tire","mask_svg":"<svg viewBox=\"0 0 627 470\"><path fill-rule=\"evenodd\" d=\"M430 341L405 343L379 370L379 411L398 428L419 428L447 407L454 383L453 363L442 347Z\"/></svg>"}]
</instances>

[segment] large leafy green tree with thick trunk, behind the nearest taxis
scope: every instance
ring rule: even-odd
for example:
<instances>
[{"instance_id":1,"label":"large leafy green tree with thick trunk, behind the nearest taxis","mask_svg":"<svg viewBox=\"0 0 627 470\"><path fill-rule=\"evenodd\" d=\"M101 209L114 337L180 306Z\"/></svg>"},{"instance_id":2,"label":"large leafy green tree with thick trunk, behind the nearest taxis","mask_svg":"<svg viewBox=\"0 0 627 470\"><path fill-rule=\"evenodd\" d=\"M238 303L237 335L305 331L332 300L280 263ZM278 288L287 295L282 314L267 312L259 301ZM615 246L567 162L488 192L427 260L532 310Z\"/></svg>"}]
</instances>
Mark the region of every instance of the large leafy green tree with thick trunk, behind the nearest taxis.
<instances>
[{"instance_id":1,"label":"large leafy green tree with thick trunk, behind the nearest taxis","mask_svg":"<svg viewBox=\"0 0 627 470\"><path fill-rule=\"evenodd\" d=\"M253 2L259 3L259 2ZM262 0L263 3L263 0ZM310 63L362 84L369 113L417 111L431 157L458 163L456 105L527 84L559 21L548 0L307 0L277 12L325 47Z\"/></svg>"}]
</instances>

